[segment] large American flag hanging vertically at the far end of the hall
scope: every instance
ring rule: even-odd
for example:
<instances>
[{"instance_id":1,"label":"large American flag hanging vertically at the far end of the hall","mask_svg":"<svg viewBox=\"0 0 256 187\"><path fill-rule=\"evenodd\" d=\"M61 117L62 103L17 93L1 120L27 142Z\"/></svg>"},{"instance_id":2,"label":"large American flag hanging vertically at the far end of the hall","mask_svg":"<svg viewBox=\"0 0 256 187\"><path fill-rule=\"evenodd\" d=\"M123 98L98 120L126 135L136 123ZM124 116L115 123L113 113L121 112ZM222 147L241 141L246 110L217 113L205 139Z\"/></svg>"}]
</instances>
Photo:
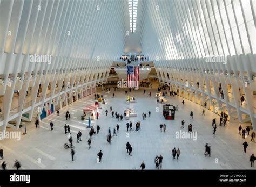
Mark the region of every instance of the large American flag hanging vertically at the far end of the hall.
<instances>
[{"instance_id":1,"label":"large American flag hanging vertically at the far end of the hall","mask_svg":"<svg viewBox=\"0 0 256 187\"><path fill-rule=\"evenodd\" d=\"M127 66L127 84L129 88L139 86L139 66Z\"/></svg>"}]
</instances>

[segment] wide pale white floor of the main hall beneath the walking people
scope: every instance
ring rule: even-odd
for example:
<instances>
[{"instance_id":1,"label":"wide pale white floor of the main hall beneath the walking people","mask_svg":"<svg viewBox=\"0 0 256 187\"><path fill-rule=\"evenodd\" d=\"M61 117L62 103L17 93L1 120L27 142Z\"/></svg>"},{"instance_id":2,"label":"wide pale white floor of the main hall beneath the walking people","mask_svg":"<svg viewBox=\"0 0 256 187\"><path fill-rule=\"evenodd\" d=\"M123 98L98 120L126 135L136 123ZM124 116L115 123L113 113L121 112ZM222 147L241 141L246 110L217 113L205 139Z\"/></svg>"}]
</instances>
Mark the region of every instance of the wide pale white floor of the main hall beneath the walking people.
<instances>
[{"instance_id":1,"label":"wide pale white floor of the main hall beneath the walking people","mask_svg":"<svg viewBox=\"0 0 256 187\"><path fill-rule=\"evenodd\" d=\"M182 106L180 97L167 96L168 103L178 105L178 112L175 120L165 120L162 111L163 104L157 105L154 94L156 89L143 88L129 92L131 97L136 98L136 103L126 104L124 91L115 92L116 97L112 98L113 89L110 92L101 91L100 94L106 98L107 104L102 105L99 120L92 120L92 125L100 126L100 133L93 136L91 149L88 149L87 139L89 139L89 129L86 128L87 121L81 121L83 108L88 104L94 104L94 96L83 98L60 110L60 115L56 113L43 119L41 127L35 128L34 122L27 123L28 134L22 135L21 140L4 139L0 141L0 149L4 149L4 160L8 163L7 168L11 169L14 161L21 162L23 169L139 169L140 163L144 160L146 169L155 169L154 157L163 155L162 169L252 169L250 167L250 156L256 153L256 143L250 138L242 139L238 135L238 125L228 123L226 127L217 126L216 135L213 135L212 119L219 116L206 111L206 116L201 116L203 107L185 100ZM147 93L151 91L152 96ZM117 121L111 118L110 106L119 114L129 106L136 110L138 117L130 118L135 130L135 124L140 121L140 131L129 131L129 138L126 137L126 125L128 120ZM159 107L159 112L157 112ZM109 110L108 116L105 110ZM66 110L71 113L71 120L66 121L64 114ZM190 119L190 111L194 112L194 119ZM142 112L151 111L151 118L147 114L146 120L142 120ZM197 132L197 140L177 139L176 132L180 131L181 120L185 120L187 125L193 124L193 131ZM217 120L217 122L218 122ZM54 130L50 132L50 121L54 123ZM130 121L130 120L129 120ZM71 162L69 149L64 149L63 145L68 142L68 137L64 133L64 125L69 124L71 135L76 146L75 161ZM111 145L106 141L107 129L117 124L120 130L117 136L113 136ZM159 124L166 124L166 132L159 131ZM76 134L82 132L82 142L76 142ZM21 129L23 133L23 130ZM126 152L126 143L129 141L133 147L132 156ZM246 154L243 152L242 143L248 142ZM212 148L211 157L204 156L205 143L210 143ZM173 160L171 150L173 147L180 148L181 155L179 161ZM102 149L103 159L97 163L97 153ZM0 160L2 163L3 160ZM216 163L217 162L217 163Z\"/></svg>"}]
</instances>

